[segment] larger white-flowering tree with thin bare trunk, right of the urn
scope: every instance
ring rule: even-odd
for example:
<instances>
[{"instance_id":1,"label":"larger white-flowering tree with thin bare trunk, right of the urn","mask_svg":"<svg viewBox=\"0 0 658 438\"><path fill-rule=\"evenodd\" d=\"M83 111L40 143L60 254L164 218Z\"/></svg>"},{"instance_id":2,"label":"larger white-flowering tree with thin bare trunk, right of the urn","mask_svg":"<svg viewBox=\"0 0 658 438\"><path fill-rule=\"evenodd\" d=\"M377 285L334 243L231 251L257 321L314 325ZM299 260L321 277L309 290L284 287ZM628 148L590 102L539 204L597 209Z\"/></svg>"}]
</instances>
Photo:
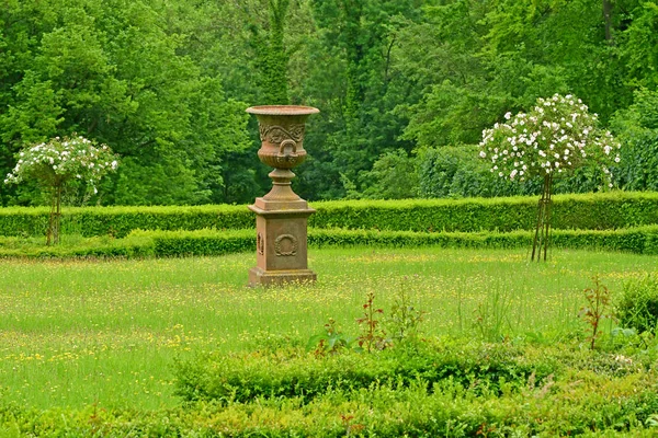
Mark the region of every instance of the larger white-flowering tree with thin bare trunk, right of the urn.
<instances>
[{"instance_id":1,"label":"larger white-flowering tree with thin bare trunk, right of the urn","mask_svg":"<svg viewBox=\"0 0 658 438\"><path fill-rule=\"evenodd\" d=\"M598 127L597 114L589 114L580 99L555 94L538 99L526 113L504 115L506 123L483 131L481 159L491 163L499 177L525 181L543 178L532 260L546 260L551 232L553 180L588 163L597 163L612 187L610 165L620 161L620 143L610 131Z\"/></svg>"}]
</instances>

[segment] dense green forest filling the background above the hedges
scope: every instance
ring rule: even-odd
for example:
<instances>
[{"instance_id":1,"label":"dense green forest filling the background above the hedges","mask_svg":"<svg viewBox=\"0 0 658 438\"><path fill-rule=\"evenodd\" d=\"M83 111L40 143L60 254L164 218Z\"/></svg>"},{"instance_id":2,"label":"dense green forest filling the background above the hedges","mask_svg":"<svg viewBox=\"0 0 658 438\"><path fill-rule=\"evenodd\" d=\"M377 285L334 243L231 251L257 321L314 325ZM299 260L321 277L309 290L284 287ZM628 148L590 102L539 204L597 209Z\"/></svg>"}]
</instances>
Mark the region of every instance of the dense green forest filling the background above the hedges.
<instances>
[{"instance_id":1,"label":"dense green forest filling the background above the hedges","mask_svg":"<svg viewBox=\"0 0 658 438\"><path fill-rule=\"evenodd\" d=\"M321 111L293 182L306 199L536 194L475 145L554 93L622 141L617 187L658 189L655 1L0 0L0 174L73 132L122 157L71 204L251 203L270 180L245 110L287 103ZM585 168L555 192L602 188ZM44 203L0 189L2 206Z\"/></svg>"}]
</instances>

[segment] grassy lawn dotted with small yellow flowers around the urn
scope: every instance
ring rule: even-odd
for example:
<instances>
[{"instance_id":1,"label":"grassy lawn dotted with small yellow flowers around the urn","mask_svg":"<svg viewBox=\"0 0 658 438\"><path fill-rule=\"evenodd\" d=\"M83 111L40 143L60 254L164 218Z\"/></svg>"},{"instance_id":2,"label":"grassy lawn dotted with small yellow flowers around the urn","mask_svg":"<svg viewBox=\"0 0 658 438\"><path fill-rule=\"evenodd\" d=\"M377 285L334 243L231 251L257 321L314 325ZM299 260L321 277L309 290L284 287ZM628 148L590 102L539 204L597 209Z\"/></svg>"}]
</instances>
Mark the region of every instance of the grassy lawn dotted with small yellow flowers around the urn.
<instances>
[{"instance_id":1,"label":"grassy lawn dotted with small yellow flowers around the urn","mask_svg":"<svg viewBox=\"0 0 658 438\"><path fill-rule=\"evenodd\" d=\"M615 298L658 256L555 250L327 249L313 286L245 286L252 254L136 261L8 261L0 266L0 399L25 406L161 408L172 364L200 351L305 344L333 318L356 334L367 292L400 289L428 312L428 336L555 342L585 330L582 289L599 275Z\"/></svg>"}]
</instances>

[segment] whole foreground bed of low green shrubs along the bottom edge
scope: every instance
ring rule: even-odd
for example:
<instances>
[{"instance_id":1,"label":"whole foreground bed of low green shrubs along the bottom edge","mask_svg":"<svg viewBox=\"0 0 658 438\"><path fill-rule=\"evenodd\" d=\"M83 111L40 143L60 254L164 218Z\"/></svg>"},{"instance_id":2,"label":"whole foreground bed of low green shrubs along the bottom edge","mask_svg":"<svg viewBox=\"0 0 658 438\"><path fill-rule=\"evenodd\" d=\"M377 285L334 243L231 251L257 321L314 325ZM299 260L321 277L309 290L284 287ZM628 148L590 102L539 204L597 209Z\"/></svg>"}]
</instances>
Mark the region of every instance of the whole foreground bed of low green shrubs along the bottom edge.
<instances>
[{"instance_id":1,"label":"whole foreground bed of low green shrubs along the bottom edge","mask_svg":"<svg viewBox=\"0 0 658 438\"><path fill-rule=\"evenodd\" d=\"M574 345L455 341L371 355L206 356L179 372L189 395L198 394L193 384L214 381L226 395L217 401L157 411L0 404L0 424L16 436L648 437L658 426L654 360ZM344 379L341 365L349 366ZM327 379L316 382L314 372Z\"/></svg>"}]
</instances>

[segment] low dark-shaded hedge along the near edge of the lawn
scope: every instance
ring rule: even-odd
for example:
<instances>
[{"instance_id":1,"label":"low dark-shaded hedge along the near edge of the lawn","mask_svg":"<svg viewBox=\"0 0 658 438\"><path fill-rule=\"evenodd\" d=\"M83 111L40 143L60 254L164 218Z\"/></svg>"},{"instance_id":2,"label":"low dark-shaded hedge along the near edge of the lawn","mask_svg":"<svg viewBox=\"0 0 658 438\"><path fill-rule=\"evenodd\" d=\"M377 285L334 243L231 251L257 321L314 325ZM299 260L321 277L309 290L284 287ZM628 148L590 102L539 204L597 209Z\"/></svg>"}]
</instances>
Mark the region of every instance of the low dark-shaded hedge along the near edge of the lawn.
<instances>
[{"instance_id":1,"label":"low dark-shaded hedge along the near edge of the lawn","mask_svg":"<svg viewBox=\"0 0 658 438\"><path fill-rule=\"evenodd\" d=\"M575 371L610 379L655 372L654 361L655 356L638 355L628 362L619 360L619 353L566 345L536 348L446 337L394 344L371 354L343 348L318 356L294 347L212 351L175 362L174 394L186 402L214 400L225 405L268 399L296 399L303 405L332 392L353 394L379 387L432 393L450 381L468 388L472 395L500 396L526 390L529 379L541 388L554 379L568 379Z\"/></svg>"}]
</instances>

